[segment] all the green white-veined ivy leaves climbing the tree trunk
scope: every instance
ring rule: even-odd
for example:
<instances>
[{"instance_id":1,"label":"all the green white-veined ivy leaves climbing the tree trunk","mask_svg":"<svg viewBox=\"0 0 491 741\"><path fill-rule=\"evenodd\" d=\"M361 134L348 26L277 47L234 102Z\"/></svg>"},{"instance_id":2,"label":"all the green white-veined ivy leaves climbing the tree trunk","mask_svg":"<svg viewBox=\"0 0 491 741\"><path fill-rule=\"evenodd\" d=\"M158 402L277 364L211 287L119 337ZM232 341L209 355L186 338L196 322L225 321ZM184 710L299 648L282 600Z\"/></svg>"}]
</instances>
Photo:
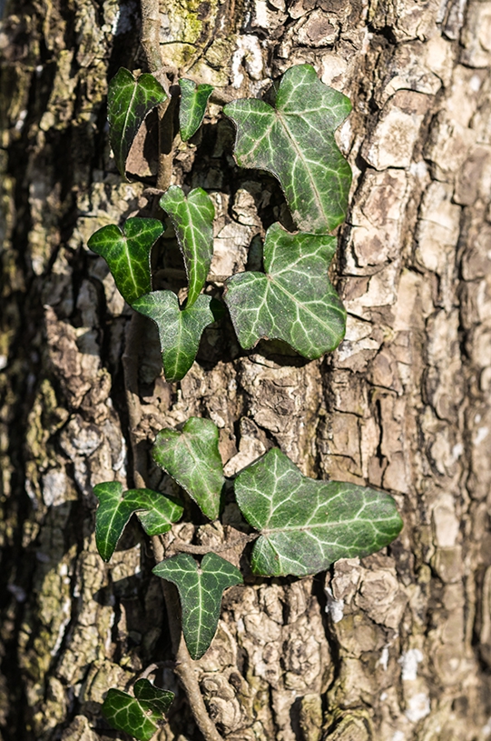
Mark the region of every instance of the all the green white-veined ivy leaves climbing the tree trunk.
<instances>
[{"instance_id":1,"label":"all the green white-veined ivy leaves climbing the tree trunk","mask_svg":"<svg viewBox=\"0 0 491 741\"><path fill-rule=\"evenodd\" d=\"M185 142L201 126L213 90L186 78L179 81L179 90L180 134ZM351 182L349 164L334 133L349 115L350 103L323 85L310 65L291 67L273 93L272 105L238 100L225 105L223 113L236 129L238 165L266 170L278 179L297 230L271 225L264 238L264 271L228 277L223 300L244 350L260 339L280 339L311 360L334 350L346 328L346 311L328 269L337 241L331 232L346 216ZM110 143L123 177L145 116L167 98L153 75L136 78L121 69L111 81ZM128 304L157 326L164 376L177 383L196 358L203 330L223 312L207 293L206 283L213 255L214 207L201 188L186 192L170 185L159 195L165 217L132 217L123 225L105 225L88 245L103 256ZM152 285L152 247L168 226L182 252L188 282L183 300L172 290L155 290ZM114 481L94 487L99 501L95 539L104 561L113 556L133 514L147 535L162 536L182 518L186 497L211 522L221 517L225 496L234 498L243 518L237 542L251 541L242 555L249 560L252 575L266 578L315 575L339 558L367 556L398 536L402 521L388 494L303 476L274 447L227 480L218 440L214 423L199 417L155 437L152 458L181 487L182 501L148 488L123 491L123 485ZM198 548L202 556L198 562L179 552L179 538L169 542L173 550L153 573L177 588L182 635L189 656L198 660L216 633L224 590L240 588L241 570L211 547L209 552ZM114 728L147 741L167 713L172 693L147 679L137 681L133 693L111 688L103 716Z\"/></svg>"}]
</instances>

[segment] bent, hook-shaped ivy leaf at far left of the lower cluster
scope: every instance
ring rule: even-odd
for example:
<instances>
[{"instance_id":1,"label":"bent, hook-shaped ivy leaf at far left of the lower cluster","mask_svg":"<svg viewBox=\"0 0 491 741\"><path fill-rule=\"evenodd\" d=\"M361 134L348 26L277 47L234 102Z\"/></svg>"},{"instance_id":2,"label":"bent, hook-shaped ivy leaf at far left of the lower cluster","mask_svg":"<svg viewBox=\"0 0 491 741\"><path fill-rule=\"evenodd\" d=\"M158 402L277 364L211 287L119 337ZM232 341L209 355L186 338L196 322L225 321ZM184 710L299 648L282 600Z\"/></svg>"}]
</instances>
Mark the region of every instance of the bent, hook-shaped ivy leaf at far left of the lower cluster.
<instances>
[{"instance_id":1,"label":"bent, hook-shaped ivy leaf at far left of the lower cluster","mask_svg":"<svg viewBox=\"0 0 491 741\"><path fill-rule=\"evenodd\" d=\"M119 481L106 481L93 487L99 499L95 513L95 542L104 561L109 561L133 512L146 510L142 525L149 535L160 535L171 529L182 516L182 506L174 499L152 489L130 489L123 495ZM148 529L147 529L148 528Z\"/></svg>"}]
</instances>

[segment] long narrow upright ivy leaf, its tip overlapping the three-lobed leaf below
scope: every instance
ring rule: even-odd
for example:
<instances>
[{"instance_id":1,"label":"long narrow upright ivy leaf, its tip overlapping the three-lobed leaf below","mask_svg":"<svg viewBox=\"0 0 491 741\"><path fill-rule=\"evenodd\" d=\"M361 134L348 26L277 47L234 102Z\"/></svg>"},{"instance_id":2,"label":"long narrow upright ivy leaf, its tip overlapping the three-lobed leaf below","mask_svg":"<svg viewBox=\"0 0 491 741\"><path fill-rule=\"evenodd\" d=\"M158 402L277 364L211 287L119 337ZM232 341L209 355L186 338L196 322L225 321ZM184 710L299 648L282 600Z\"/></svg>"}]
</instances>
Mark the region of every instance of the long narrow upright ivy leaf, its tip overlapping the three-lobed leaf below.
<instances>
[{"instance_id":1,"label":"long narrow upright ivy leaf, its tip overlapping the three-lobed leaf below","mask_svg":"<svg viewBox=\"0 0 491 741\"><path fill-rule=\"evenodd\" d=\"M210 195L201 188L194 188L186 198L179 185L171 185L162 195L160 204L171 216L184 257L189 280L186 308L190 308L200 295L210 270L215 208Z\"/></svg>"}]
</instances>

